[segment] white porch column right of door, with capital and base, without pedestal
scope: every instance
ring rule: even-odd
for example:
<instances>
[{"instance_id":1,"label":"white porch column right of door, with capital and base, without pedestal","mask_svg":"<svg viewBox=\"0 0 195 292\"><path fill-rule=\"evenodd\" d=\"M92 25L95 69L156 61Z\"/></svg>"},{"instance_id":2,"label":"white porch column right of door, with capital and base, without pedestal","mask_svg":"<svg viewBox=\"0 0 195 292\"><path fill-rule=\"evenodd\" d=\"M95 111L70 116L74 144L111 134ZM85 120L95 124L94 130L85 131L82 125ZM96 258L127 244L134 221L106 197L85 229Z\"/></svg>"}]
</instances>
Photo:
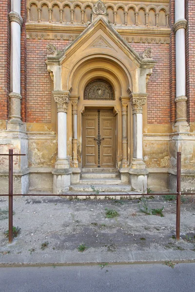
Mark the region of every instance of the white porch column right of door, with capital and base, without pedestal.
<instances>
[{"instance_id":1,"label":"white porch column right of door, with capital and base, without pedestal","mask_svg":"<svg viewBox=\"0 0 195 292\"><path fill-rule=\"evenodd\" d=\"M143 169L145 164L143 162L143 130L142 130L142 110L146 103L147 93L131 93L130 101L133 112L133 161L132 168Z\"/></svg>"}]
</instances>

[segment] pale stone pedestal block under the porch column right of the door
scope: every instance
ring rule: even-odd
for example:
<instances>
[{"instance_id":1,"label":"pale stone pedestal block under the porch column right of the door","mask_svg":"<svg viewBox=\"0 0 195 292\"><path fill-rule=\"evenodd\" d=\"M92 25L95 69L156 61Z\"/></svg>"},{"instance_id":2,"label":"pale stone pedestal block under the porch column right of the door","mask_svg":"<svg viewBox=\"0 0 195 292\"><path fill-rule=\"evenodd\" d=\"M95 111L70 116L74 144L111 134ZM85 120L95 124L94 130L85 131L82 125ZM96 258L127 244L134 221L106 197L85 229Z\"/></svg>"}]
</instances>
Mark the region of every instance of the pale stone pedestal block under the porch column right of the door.
<instances>
[{"instance_id":1,"label":"pale stone pedestal block under the porch column right of the door","mask_svg":"<svg viewBox=\"0 0 195 292\"><path fill-rule=\"evenodd\" d=\"M132 190L147 194L148 171L146 169L130 169L129 173Z\"/></svg>"}]
</instances>

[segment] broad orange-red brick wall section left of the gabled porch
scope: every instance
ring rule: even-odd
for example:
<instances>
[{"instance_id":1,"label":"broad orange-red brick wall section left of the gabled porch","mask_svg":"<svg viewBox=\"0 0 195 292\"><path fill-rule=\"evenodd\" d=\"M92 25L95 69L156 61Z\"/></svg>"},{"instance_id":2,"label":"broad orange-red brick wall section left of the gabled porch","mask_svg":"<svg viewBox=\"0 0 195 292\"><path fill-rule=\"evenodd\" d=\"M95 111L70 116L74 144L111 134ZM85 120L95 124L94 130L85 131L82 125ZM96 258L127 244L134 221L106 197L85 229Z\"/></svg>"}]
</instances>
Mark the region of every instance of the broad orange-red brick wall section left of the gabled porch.
<instances>
[{"instance_id":1,"label":"broad orange-red brick wall section left of the gabled porch","mask_svg":"<svg viewBox=\"0 0 195 292\"><path fill-rule=\"evenodd\" d=\"M51 122L51 77L47 72L46 46L64 49L70 41L27 39L27 122Z\"/></svg>"}]
</instances>

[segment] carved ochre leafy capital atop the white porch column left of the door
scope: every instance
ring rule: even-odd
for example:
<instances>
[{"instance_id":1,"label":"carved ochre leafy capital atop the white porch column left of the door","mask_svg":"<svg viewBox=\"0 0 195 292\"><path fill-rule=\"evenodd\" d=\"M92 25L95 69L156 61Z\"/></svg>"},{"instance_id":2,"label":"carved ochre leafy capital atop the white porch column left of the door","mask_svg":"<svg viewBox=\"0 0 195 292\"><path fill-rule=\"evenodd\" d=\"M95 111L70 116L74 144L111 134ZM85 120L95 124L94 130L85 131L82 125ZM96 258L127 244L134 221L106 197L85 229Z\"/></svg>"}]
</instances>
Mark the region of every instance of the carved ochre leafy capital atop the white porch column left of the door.
<instances>
[{"instance_id":1,"label":"carved ochre leafy capital atop the white porch column left of the door","mask_svg":"<svg viewBox=\"0 0 195 292\"><path fill-rule=\"evenodd\" d=\"M54 100L57 103L57 112L67 112L70 101L69 91L53 91Z\"/></svg>"}]
</instances>

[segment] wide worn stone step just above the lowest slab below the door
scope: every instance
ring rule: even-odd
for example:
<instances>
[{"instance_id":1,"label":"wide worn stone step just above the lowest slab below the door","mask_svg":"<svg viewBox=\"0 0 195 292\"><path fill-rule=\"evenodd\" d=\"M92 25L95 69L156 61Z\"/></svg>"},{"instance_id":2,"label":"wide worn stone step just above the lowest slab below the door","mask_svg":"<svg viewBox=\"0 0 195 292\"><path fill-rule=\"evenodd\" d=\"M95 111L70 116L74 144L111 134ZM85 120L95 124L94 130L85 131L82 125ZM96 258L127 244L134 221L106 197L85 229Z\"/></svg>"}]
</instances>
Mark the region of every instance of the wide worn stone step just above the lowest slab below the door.
<instances>
[{"instance_id":1,"label":"wide worn stone step just above the lowest slab below the door","mask_svg":"<svg viewBox=\"0 0 195 292\"><path fill-rule=\"evenodd\" d=\"M131 185L130 184L96 184L93 186L99 192L130 192ZM70 191L73 192L89 192L90 194L94 194L91 186L89 184L71 184Z\"/></svg>"}]
</instances>

